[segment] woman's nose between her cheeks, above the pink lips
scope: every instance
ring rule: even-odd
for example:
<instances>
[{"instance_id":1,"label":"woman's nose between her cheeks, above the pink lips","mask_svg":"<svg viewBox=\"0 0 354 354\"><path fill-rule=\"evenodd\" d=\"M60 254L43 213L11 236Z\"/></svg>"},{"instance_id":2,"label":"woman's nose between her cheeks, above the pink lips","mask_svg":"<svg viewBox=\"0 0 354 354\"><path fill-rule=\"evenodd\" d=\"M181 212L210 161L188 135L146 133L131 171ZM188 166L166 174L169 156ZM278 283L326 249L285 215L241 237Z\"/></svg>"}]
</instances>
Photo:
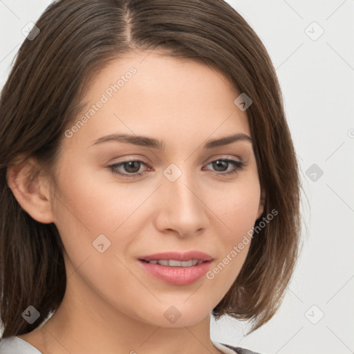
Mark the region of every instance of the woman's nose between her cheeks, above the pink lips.
<instances>
[{"instance_id":1,"label":"woman's nose between her cheeks, above the pink lips","mask_svg":"<svg viewBox=\"0 0 354 354\"><path fill-rule=\"evenodd\" d=\"M207 201L198 186L196 176L183 171L171 182L163 176L158 191L156 227L160 232L175 232L179 236L193 236L207 227Z\"/></svg>"}]
</instances>

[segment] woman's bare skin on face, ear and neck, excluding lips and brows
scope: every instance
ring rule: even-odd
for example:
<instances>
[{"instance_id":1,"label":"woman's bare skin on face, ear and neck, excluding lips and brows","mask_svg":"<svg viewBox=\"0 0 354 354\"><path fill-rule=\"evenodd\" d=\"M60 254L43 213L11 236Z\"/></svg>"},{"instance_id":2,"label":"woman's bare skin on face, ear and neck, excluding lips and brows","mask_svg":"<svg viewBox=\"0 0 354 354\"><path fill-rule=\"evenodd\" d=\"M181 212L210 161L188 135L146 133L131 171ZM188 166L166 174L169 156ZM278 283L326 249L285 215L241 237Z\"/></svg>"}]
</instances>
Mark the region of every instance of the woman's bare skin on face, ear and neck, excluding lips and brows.
<instances>
[{"instance_id":1,"label":"woman's bare skin on face, ear and neck, excluding lips and brows","mask_svg":"<svg viewBox=\"0 0 354 354\"><path fill-rule=\"evenodd\" d=\"M19 335L44 354L220 353L210 339L211 311L239 274L250 243L214 279L187 286L156 279L137 258L201 250L213 257L213 269L263 212L252 144L203 149L209 139L251 136L246 112L234 104L239 92L218 69L131 52L93 78L82 114L131 66L137 69L131 80L71 138L63 137L59 190L50 191L45 174L26 182L35 160L8 169L21 207L41 223L55 223L65 246L61 306L46 324ZM165 149L115 141L91 146L111 133L163 140ZM140 177L109 169L129 158L147 164L136 167ZM221 158L245 166L225 176L232 164L218 169L210 163ZM162 173L171 163L182 171L174 182ZM116 169L129 174L125 167ZM99 234L111 242L103 253L93 247ZM174 323L164 316L170 306L181 314Z\"/></svg>"}]
</instances>

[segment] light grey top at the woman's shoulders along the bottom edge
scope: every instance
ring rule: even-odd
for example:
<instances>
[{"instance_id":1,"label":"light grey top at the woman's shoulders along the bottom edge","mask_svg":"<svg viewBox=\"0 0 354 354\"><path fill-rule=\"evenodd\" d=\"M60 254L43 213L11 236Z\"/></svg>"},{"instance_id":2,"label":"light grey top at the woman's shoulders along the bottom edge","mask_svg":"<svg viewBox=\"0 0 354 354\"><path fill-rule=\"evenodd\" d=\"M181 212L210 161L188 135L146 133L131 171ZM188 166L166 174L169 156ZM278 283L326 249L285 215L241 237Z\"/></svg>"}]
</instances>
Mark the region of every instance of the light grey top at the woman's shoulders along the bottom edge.
<instances>
[{"instance_id":1,"label":"light grey top at the woman's shoulders along the bottom edge","mask_svg":"<svg viewBox=\"0 0 354 354\"><path fill-rule=\"evenodd\" d=\"M260 354L250 351L245 348L230 346L229 344L222 344L213 342L214 346L225 354ZM43 354L34 346L24 341L17 336L0 339L0 353L1 354Z\"/></svg>"}]
</instances>

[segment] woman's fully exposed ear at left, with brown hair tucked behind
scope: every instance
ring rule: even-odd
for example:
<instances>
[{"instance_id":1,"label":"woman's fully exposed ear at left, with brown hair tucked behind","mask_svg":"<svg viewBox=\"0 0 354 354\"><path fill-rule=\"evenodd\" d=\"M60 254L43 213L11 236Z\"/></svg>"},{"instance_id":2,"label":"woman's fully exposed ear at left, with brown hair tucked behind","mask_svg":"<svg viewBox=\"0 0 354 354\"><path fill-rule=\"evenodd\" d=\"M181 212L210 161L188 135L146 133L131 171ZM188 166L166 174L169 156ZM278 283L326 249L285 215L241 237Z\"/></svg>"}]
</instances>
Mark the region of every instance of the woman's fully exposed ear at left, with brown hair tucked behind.
<instances>
[{"instance_id":1,"label":"woman's fully exposed ear at left, with brown hair tucked behind","mask_svg":"<svg viewBox=\"0 0 354 354\"><path fill-rule=\"evenodd\" d=\"M41 176L40 167L35 158L8 166L8 186L15 198L32 218L39 223L53 223L55 217L50 203L48 180Z\"/></svg>"}]
</instances>

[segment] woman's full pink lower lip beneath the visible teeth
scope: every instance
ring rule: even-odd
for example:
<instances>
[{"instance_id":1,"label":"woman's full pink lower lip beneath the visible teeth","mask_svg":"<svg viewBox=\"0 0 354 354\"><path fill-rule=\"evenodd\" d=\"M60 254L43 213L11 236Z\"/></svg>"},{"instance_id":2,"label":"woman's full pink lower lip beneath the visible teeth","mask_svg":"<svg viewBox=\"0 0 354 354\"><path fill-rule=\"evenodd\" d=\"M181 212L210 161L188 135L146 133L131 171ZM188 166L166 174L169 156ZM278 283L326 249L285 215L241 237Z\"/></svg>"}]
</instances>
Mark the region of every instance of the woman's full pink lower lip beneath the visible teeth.
<instances>
[{"instance_id":1,"label":"woman's full pink lower lip beneath the visible teeth","mask_svg":"<svg viewBox=\"0 0 354 354\"><path fill-rule=\"evenodd\" d=\"M188 285L201 279L212 261L206 261L192 267L170 267L169 265L151 264L138 260L140 264L156 278L174 285Z\"/></svg>"}]
</instances>

